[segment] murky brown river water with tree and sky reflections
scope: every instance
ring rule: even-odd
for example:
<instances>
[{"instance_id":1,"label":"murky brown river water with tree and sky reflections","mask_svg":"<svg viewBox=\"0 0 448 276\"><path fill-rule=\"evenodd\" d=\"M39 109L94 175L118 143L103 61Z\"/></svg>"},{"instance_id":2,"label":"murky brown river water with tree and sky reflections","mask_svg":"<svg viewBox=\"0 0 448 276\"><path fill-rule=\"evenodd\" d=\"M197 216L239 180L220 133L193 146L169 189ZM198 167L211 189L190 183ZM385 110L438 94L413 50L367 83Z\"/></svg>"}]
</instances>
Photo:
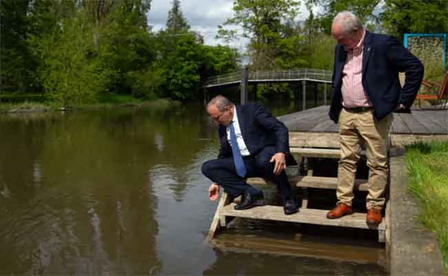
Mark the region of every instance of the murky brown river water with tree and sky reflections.
<instances>
[{"instance_id":1,"label":"murky brown river water with tree and sky reflections","mask_svg":"<svg viewBox=\"0 0 448 276\"><path fill-rule=\"evenodd\" d=\"M218 142L200 104L1 115L0 135L0 275L385 274L367 232L236 220L203 242Z\"/></svg>"}]
</instances>

